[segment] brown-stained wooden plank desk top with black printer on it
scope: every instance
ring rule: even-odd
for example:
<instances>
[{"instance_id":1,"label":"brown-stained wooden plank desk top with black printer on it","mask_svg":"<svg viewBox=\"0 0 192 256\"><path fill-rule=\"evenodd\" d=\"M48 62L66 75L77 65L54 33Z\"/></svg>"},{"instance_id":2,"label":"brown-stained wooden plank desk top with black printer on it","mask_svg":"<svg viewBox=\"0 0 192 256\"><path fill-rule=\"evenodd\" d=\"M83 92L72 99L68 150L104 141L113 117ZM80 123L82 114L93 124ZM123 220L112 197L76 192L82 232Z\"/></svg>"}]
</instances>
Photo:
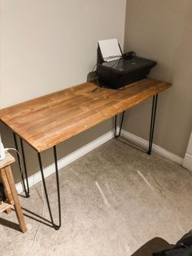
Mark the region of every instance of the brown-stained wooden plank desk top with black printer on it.
<instances>
[{"instance_id":1,"label":"brown-stained wooden plank desk top with black printer on it","mask_svg":"<svg viewBox=\"0 0 192 256\"><path fill-rule=\"evenodd\" d=\"M37 152L140 104L171 86L143 79L124 90L95 89L85 82L65 90L31 99L0 110L1 120Z\"/></svg>"}]
</instances>

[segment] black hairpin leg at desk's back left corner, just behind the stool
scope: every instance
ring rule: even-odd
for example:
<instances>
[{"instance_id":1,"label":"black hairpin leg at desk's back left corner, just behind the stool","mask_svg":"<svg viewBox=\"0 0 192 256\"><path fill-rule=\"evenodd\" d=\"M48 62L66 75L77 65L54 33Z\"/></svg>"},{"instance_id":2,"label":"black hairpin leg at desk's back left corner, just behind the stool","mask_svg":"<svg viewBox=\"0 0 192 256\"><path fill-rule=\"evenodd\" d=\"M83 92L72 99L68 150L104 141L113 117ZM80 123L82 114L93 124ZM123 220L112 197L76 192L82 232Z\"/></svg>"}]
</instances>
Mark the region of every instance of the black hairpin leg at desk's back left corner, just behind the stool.
<instances>
[{"instance_id":1,"label":"black hairpin leg at desk's back left corner, just behind the stool","mask_svg":"<svg viewBox=\"0 0 192 256\"><path fill-rule=\"evenodd\" d=\"M15 148L19 152L19 148L18 148L18 143L17 143L15 132L13 133L13 138L14 138L14 142L15 142ZM19 155L18 152L17 152L17 159L18 159L19 166L20 166L20 174L21 174L21 179L22 179L22 183L23 183L23 187L24 187L25 196L29 197L28 173L27 173L26 161L25 161L25 157L24 157L24 145L23 145L22 139L20 139L20 144L21 144L22 157L23 157L23 160L24 160L24 174L25 174L25 180L26 180L26 183L27 183L27 188L26 188L26 185L25 185L25 182L24 182L24 174L23 174L23 172L21 170L20 155Z\"/></svg>"}]
</instances>

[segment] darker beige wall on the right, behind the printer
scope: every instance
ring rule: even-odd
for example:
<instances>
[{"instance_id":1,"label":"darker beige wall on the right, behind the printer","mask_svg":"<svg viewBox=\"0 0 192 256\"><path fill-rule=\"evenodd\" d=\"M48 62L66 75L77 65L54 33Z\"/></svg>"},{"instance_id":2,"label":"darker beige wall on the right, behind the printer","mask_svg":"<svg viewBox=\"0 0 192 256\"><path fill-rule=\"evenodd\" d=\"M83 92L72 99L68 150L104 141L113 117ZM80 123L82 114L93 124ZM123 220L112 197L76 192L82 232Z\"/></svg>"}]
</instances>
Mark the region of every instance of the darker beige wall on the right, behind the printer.
<instances>
[{"instance_id":1,"label":"darker beige wall on the right, behind the printer","mask_svg":"<svg viewBox=\"0 0 192 256\"><path fill-rule=\"evenodd\" d=\"M157 60L151 72L172 82L159 95L155 143L184 157L192 129L192 1L128 0L125 51ZM124 129L148 138L151 101L129 111Z\"/></svg>"}]
</instances>

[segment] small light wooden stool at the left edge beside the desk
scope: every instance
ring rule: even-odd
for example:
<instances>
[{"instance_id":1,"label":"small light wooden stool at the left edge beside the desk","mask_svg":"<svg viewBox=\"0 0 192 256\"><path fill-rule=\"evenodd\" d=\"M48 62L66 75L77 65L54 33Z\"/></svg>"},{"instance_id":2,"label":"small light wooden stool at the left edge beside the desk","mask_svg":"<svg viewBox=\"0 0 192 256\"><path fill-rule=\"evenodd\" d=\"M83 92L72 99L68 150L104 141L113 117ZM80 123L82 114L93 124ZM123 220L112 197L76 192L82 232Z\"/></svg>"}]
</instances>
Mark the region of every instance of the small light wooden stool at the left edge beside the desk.
<instances>
[{"instance_id":1,"label":"small light wooden stool at the left edge beside the desk","mask_svg":"<svg viewBox=\"0 0 192 256\"><path fill-rule=\"evenodd\" d=\"M20 206L20 200L16 192L15 182L11 171L11 163L15 161L15 158L11 156L9 152L6 153L6 158L0 161L0 180L3 183L4 192L7 197L6 202L0 203L0 213L6 211L7 214L11 212L11 206L14 205L15 212L20 223L20 229L22 232L27 231L27 227L24 223L24 215Z\"/></svg>"}]
</instances>

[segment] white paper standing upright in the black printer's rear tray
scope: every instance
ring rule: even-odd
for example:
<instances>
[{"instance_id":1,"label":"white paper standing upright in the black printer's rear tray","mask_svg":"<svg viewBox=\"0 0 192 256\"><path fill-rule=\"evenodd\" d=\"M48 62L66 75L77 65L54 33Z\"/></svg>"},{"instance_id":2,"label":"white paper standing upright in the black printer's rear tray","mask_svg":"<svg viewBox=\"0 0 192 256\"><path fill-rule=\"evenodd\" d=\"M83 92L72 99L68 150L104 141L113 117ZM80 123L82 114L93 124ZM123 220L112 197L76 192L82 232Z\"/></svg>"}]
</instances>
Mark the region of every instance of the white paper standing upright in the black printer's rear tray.
<instances>
[{"instance_id":1,"label":"white paper standing upright in the black printer's rear tray","mask_svg":"<svg viewBox=\"0 0 192 256\"><path fill-rule=\"evenodd\" d=\"M112 60L120 60L120 58L122 58L117 39L98 41L98 45L100 47L104 61L110 62Z\"/></svg>"}]
</instances>

